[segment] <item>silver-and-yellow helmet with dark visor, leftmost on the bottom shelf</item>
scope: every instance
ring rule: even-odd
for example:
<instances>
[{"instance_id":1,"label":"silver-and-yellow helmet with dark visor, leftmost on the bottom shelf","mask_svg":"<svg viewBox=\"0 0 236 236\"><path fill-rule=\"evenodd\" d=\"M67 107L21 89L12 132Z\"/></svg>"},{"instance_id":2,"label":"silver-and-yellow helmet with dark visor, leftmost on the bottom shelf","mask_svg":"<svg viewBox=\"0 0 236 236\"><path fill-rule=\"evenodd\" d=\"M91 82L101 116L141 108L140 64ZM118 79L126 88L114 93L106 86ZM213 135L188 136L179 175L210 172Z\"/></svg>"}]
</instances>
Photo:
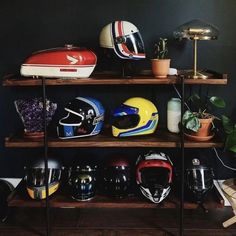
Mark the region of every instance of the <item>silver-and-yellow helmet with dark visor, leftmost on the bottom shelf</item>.
<instances>
[{"instance_id":1,"label":"silver-and-yellow helmet with dark visor, leftmost on the bottom shelf","mask_svg":"<svg viewBox=\"0 0 236 236\"><path fill-rule=\"evenodd\" d=\"M46 198L46 184L48 184L48 195L55 193L59 188L60 179L61 164L54 158L48 158L48 183L45 178L44 158L36 159L29 167L26 167L26 189L33 199Z\"/></svg>"}]
</instances>

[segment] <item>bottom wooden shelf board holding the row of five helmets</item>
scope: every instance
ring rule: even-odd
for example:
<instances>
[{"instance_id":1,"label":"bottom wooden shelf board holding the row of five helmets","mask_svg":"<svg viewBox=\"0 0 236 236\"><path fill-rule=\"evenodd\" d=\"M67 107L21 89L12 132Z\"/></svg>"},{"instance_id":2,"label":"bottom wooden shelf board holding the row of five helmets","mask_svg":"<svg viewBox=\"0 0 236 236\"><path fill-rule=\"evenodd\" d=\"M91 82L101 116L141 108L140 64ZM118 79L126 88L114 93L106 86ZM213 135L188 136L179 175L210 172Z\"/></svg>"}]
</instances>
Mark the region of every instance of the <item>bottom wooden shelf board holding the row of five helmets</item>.
<instances>
[{"instance_id":1,"label":"bottom wooden shelf board holding the row of five helmets","mask_svg":"<svg viewBox=\"0 0 236 236\"><path fill-rule=\"evenodd\" d=\"M222 208L224 207L224 202L220 198L219 194L216 192L215 188L208 194L207 199L205 199L203 206L206 209L212 208ZM56 192L49 197L50 207L57 208L179 208L180 201L176 197L173 190L170 195L164 199L159 204L154 204L142 196L128 196L124 198L112 198L103 195L96 195L93 199L89 201L75 201L70 198L68 195L61 193L60 191ZM11 194L8 198L8 206L10 207L45 207L45 200L33 200L31 199L25 188L22 186L16 189L15 192ZM185 201L185 209L196 209L200 207L199 204Z\"/></svg>"}]
</instances>

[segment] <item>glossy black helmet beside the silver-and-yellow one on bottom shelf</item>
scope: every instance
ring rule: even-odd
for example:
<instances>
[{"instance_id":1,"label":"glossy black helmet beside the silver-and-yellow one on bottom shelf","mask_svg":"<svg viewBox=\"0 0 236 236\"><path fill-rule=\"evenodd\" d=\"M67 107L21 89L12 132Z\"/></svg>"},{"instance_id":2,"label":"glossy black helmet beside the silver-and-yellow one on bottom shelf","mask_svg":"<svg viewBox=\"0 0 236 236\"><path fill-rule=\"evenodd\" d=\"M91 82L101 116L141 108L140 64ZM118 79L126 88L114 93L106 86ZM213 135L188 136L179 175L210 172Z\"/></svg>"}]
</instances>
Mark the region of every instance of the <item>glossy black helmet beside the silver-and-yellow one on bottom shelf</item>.
<instances>
[{"instance_id":1,"label":"glossy black helmet beside the silver-and-yellow one on bottom shelf","mask_svg":"<svg viewBox=\"0 0 236 236\"><path fill-rule=\"evenodd\" d=\"M81 164L69 170L68 187L70 195L77 201L88 201L95 196L97 166Z\"/></svg>"}]
</instances>

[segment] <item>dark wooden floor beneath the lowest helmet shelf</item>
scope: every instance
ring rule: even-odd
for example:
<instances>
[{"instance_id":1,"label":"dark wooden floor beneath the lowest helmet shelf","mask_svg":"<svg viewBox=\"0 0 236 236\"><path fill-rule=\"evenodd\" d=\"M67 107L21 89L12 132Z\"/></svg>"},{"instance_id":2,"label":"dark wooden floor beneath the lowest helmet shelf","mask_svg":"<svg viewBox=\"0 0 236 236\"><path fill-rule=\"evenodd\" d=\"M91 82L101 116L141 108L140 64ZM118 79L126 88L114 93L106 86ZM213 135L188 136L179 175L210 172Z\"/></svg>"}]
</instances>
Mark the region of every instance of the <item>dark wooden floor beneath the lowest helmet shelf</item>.
<instances>
[{"instance_id":1,"label":"dark wooden floor beneath the lowest helmet shelf","mask_svg":"<svg viewBox=\"0 0 236 236\"><path fill-rule=\"evenodd\" d=\"M232 210L185 210L184 235L232 236L236 225L224 229L222 222ZM66 236L164 236L179 235L179 211L170 209L51 209L51 235ZM0 224L1 236L43 236L45 210L12 208Z\"/></svg>"}]
</instances>

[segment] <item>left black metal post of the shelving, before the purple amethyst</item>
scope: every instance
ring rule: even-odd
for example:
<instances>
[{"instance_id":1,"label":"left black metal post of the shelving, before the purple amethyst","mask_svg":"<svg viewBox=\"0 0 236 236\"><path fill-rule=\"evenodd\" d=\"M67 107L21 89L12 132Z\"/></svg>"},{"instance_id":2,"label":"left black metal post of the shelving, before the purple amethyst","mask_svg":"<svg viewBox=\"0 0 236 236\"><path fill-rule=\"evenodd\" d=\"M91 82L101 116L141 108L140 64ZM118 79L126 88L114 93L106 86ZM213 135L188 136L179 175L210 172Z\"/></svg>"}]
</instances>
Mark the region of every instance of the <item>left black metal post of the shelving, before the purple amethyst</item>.
<instances>
[{"instance_id":1,"label":"left black metal post of the shelving, before the purple amethyst","mask_svg":"<svg viewBox=\"0 0 236 236\"><path fill-rule=\"evenodd\" d=\"M47 104L46 104L46 84L45 78L42 77L43 88L43 125L44 125L44 168L45 168L45 188L46 188L46 235L50 235L50 206L49 206L49 191L48 191L48 140L47 140Z\"/></svg>"}]
</instances>

